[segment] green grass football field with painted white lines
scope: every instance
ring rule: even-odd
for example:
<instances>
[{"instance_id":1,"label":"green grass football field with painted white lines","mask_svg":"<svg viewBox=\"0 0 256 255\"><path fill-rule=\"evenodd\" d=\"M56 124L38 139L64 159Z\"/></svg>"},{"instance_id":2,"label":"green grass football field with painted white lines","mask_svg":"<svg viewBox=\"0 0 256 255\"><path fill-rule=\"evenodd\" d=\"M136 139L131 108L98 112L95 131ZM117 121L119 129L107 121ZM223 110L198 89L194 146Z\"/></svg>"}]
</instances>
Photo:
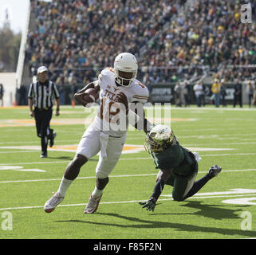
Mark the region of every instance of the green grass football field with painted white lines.
<instances>
[{"instance_id":1,"label":"green grass football field with painted white lines","mask_svg":"<svg viewBox=\"0 0 256 255\"><path fill-rule=\"evenodd\" d=\"M223 167L218 177L184 202L173 201L172 187L165 186L154 212L141 208L138 202L152 194L157 171L148 153L140 150L121 156L96 214L83 211L95 186L98 156L82 167L61 205L45 214L45 201L57 190L75 155L73 147L85 131L85 111L61 107L61 116L52 119L56 149L41 159L40 140L28 108L1 108L0 238L254 238L255 116L255 109L248 108L171 109L171 128L179 143L202 157L197 179L215 163ZM126 143L143 145L144 132L128 131ZM5 229L10 226L6 215L11 216L10 230Z\"/></svg>"}]
</instances>

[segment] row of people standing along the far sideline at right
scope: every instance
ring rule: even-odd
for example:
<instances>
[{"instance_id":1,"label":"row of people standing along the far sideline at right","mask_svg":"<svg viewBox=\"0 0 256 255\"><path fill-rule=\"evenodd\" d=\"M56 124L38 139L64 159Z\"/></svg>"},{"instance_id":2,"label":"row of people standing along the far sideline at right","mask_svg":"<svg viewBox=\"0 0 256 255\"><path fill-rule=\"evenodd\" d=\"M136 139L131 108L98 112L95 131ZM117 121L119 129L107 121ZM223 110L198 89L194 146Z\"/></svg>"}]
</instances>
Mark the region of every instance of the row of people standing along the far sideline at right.
<instances>
[{"instance_id":1,"label":"row of people standing along the far sideline at right","mask_svg":"<svg viewBox=\"0 0 256 255\"><path fill-rule=\"evenodd\" d=\"M245 96L242 96L242 87ZM219 79L217 76L212 84L203 84L202 80L197 80L193 84L187 80L177 81L173 88L173 96L172 103L176 107L187 107L191 102L195 102L198 107L214 104L219 108L226 107L226 100L229 100L234 108L237 105L242 108L245 101L248 107L252 108L256 107L256 83L254 80L242 81L235 78L232 84L228 84L225 79Z\"/></svg>"}]
</instances>

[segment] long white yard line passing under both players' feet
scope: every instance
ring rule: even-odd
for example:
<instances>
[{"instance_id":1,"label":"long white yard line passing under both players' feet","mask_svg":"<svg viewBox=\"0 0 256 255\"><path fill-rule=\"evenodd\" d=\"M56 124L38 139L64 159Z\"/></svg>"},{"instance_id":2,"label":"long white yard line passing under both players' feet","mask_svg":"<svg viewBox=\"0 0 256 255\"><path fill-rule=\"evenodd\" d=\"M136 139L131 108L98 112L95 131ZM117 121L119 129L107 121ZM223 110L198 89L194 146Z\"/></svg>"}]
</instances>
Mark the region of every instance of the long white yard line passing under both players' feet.
<instances>
[{"instance_id":1,"label":"long white yard line passing under both players' feet","mask_svg":"<svg viewBox=\"0 0 256 255\"><path fill-rule=\"evenodd\" d=\"M244 194L232 194L232 191L231 192L231 195L230 194L225 194L225 195L209 195L209 196L205 196L205 195L202 195L202 194L198 194L198 196L193 196L191 198L228 198L228 197L241 197L241 196L250 196L250 195L256 195L256 190L254 190L254 194L250 194L250 191L252 190L249 190L249 194L246 194L248 190L246 189L232 189L232 190L240 190L240 192L244 192ZM228 191L227 191L228 192ZM215 193L215 192L213 192ZM238 191L239 193L239 191ZM211 192L210 192L211 194ZM191 199L191 198L187 198L187 199ZM252 198L251 200L254 200L256 198ZM160 198L158 199L158 201L168 201L168 200L173 200L173 198ZM141 199L141 200L131 200L131 201L116 201L116 202L100 202L100 205L106 205L106 204L120 204L120 203L131 203L131 202L144 202L144 201L147 201L147 200L144 200L144 199ZM187 200L186 200L187 201ZM186 202L185 201L185 202ZM256 203L255 203L256 204ZM87 203L82 203L82 204L69 204L69 205L58 205L58 207L64 207L64 206L86 206ZM43 208L44 206L22 206L22 207L8 207L8 208L0 208L0 210L18 210L18 209L38 209L38 208Z\"/></svg>"}]
</instances>

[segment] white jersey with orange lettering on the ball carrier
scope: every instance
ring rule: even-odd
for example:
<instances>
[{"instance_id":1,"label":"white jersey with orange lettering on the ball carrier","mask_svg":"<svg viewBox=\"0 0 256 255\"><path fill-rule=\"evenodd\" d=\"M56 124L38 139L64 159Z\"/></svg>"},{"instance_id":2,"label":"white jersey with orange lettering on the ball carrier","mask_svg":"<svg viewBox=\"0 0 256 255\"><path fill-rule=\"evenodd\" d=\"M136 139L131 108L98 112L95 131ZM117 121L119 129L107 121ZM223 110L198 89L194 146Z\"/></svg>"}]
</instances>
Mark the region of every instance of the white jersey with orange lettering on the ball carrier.
<instances>
[{"instance_id":1,"label":"white jersey with orange lettering on the ball carrier","mask_svg":"<svg viewBox=\"0 0 256 255\"><path fill-rule=\"evenodd\" d=\"M123 92L129 104L145 104L148 101L148 88L139 80L134 80L130 87L117 86L112 68L102 70L98 78L100 108L93 121L93 127L108 135L125 135L128 129L128 115L126 116L122 111L124 108L120 108L120 104L116 103L116 95Z\"/></svg>"}]
</instances>

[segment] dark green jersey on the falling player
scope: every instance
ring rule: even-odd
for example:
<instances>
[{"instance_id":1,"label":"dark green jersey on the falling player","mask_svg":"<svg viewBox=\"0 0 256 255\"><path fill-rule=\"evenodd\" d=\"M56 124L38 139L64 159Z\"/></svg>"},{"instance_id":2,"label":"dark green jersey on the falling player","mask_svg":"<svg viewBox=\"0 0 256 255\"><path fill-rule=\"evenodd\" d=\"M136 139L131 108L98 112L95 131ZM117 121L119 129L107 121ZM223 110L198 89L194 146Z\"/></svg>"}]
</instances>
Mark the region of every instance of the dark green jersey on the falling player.
<instances>
[{"instance_id":1,"label":"dark green jersey on the falling player","mask_svg":"<svg viewBox=\"0 0 256 255\"><path fill-rule=\"evenodd\" d=\"M191 171L191 166L196 163L193 153L179 145L177 139L175 143L172 143L164 151L152 153L152 158L154 159L156 168L173 168L173 173L178 175L187 175Z\"/></svg>"}]
</instances>

